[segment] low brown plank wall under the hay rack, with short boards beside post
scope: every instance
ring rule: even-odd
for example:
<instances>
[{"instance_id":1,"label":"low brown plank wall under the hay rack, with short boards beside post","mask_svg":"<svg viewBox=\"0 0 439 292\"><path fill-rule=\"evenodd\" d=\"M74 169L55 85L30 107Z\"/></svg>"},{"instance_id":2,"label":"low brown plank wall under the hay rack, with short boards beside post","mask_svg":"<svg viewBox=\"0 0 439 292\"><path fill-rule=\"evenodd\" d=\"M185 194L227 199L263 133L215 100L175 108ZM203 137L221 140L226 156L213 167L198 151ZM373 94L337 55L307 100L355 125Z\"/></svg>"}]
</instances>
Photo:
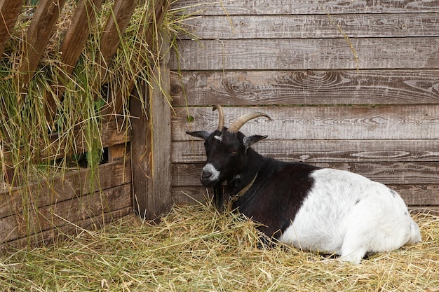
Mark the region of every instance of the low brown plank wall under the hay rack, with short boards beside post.
<instances>
[{"instance_id":1,"label":"low brown plank wall under the hay rack, with short boards beside post","mask_svg":"<svg viewBox=\"0 0 439 292\"><path fill-rule=\"evenodd\" d=\"M114 120L100 130L108 159L97 167L95 183L83 168L0 192L0 253L101 228L133 211L129 132Z\"/></svg>"}]
</instances>

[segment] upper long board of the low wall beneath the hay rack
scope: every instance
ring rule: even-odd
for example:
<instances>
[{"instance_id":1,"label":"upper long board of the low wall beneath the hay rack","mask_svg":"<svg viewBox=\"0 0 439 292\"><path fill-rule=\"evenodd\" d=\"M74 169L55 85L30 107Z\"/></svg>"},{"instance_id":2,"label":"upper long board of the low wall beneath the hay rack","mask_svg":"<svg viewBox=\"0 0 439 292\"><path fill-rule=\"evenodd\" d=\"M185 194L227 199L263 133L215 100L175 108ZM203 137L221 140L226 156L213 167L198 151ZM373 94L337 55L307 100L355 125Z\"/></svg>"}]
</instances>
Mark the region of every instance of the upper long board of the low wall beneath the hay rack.
<instances>
[{"instance_id":1,"label":"upper long board of the low wall beneath the hay rack","mask_svg":"<svg viewBox=\"0 0 439 292\"><path fill-rule=\"evenodd\" d=\"M58 202L81 197L93 193L121 186L131 181L131 168L129 162L117 160L99 166L97 178L93 186L88 180L89 169L79 169L65 174L64 178L55 177L50 181L40 181L34 185L13 188L0 193L0 218L22 213L29 206L46 207ZM30 204L23 206L23 202Z\"/></svg>"}]
</instances>

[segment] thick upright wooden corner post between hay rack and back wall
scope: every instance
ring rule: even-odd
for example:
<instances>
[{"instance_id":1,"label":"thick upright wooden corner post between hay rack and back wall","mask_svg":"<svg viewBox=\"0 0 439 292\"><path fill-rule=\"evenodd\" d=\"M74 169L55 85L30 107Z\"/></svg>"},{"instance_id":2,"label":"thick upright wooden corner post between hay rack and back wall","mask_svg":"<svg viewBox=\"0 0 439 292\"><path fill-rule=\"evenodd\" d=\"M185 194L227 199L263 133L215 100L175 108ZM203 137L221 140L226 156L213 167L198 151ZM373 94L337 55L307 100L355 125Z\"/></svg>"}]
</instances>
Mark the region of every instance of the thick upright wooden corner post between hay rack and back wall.
<instances>
[{"instance_id":1,"label":"thick upright wooden corner post between hay rack and back wall","mask_svg":"<svg viewBox=\"0 0 439 292\"><path fill-rule=\"evenodd\" d=\"M162 43L168 46L167 40ZM161 52L166 55L160 66L151 70L151 85L144 85L143 92L136 91L130 99L133 203L135 212L146 219L158 218L171 204L169 57L167 49L162 47Z\"/></svg>"}]
</instances>

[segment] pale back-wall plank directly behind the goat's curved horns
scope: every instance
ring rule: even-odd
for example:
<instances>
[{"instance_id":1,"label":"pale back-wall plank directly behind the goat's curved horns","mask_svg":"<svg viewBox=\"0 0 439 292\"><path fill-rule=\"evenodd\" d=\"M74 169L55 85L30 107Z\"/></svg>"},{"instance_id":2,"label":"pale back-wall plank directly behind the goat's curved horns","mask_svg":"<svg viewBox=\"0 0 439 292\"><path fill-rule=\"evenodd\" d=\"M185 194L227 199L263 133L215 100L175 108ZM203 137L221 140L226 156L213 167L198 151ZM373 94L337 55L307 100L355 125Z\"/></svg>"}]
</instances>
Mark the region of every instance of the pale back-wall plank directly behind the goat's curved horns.
<instances>
[{"instance_id":1,"label":"pale back-wall plank directly behind the goat's curved horns","mask_svg":"<svg viewBox=\"0 0 439 292\"><path fill-rule=\"evenodd\" d=\"M188 122L188 111L191 122ZM269 134L271 139L439 139L439 104L233 107L224 108L225 125L251 111L266 113L273 120L250 120L241 131L248 135ZM187 141L187 130L217 128L217 113L211 107L180 108L175 113L173 141Z\"/></svg>"}]
</instances>

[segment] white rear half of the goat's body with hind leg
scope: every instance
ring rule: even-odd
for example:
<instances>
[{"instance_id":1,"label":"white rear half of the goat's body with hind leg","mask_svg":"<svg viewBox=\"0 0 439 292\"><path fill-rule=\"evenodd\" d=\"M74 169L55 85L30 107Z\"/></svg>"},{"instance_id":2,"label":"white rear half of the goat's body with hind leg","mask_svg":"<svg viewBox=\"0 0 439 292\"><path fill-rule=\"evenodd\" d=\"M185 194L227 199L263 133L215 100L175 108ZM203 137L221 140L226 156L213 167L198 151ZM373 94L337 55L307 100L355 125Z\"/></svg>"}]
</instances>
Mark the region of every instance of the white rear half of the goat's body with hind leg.
<instances>
[{"instance_id":1,"label":"white rear half of the goat's body with hind leg","mask_svg":"<svg viewBox=\"0 0 439 292\"><path fill-rule=\"evenodd\" d=\"M421 241L403 199L382 183L337 169L318 169L311 176L313 188L282 242L360 263L366 253Z\"/></svg>"}]
</instances>

